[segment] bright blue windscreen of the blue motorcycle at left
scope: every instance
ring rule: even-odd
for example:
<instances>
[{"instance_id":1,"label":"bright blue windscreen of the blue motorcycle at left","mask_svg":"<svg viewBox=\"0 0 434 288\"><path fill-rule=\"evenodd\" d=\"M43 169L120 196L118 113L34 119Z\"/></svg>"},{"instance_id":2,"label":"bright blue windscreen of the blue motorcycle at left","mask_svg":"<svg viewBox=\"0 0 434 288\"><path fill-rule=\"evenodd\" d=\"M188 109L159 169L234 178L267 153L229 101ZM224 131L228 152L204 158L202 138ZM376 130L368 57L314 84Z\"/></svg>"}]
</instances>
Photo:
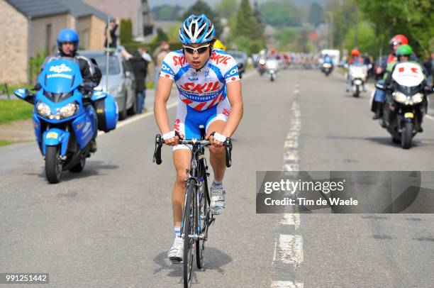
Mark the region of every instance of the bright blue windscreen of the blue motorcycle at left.
<instances>
[{"instance_id":1,"label":"bright blue windscreen of the blue motorcycle at left","mask_svg":"<svg viewBox=\"0 0 434 288\"><path fill-rule=\"evenodd\" d=\"M77 61L62 57L48 62L38 77L43 89L50 93L65 94L82 84L83 78Z\"/></svg>"}]
</instances>

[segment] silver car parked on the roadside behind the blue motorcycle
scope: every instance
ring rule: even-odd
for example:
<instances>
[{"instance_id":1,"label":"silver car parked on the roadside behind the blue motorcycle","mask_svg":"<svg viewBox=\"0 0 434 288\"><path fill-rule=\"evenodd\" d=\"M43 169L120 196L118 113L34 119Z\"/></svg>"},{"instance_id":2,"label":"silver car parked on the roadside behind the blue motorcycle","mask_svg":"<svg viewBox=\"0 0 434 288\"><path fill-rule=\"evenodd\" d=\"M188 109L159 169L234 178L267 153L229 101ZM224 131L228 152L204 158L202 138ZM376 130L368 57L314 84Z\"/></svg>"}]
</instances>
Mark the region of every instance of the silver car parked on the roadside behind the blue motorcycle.
<instances>
[{"instance_id":1,"label":"silver car parked on the roadside behind the blue motorcycle","mask_svg":"<svg viewBox=\"0 0 434 288\"><path fill-rule=\"evenodd\" d=\"M102 79L96 90L109 93L116 99L119 107L119 119L127 115L134 115L135 111L135 79L130 63L124 60L118 52L109 54L109 89L106 87L106 52L105 51L79 51L80 55L96 60L102 72Z\"/></svg>"}]
</instances>

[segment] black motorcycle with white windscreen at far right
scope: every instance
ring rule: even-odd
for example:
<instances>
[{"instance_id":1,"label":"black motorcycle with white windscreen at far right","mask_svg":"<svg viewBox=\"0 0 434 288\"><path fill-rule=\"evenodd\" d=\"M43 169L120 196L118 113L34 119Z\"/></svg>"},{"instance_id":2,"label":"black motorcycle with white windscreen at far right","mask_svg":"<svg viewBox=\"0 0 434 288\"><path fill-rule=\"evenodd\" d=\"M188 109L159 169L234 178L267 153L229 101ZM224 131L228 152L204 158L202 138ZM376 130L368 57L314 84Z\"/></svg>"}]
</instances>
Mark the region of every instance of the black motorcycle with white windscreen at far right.
<instances>
[{"instance_id":1,"label":"black motorcycle with white windscreen at far right","mask_svg":"<svg viewBox=\"0 0 434 288\"><path fill-rule=\"evenodd\" d=\"M386 91L380 125L391 134L394 143L408 149L416 133L422 131L421 123L428 107L426 96L433 93L433 88L425 86L421 67L413 62L396 64L391 79L388 86L375 85Z\"/></svg>"}]
</instances>

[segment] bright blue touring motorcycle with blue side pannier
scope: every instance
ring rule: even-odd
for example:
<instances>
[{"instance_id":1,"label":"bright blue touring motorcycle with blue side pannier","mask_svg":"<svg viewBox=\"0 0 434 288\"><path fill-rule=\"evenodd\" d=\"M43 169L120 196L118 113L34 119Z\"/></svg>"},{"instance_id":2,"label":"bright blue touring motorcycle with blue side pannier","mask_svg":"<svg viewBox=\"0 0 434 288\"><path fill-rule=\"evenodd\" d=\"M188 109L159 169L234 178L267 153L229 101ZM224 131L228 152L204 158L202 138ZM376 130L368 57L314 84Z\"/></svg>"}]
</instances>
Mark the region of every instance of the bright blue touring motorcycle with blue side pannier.
<instances>
[{"instance_id":1,"label":"bright blue touring motorcycle with blue side pannier","mask_svg":"<svg viewBox=\"0 0 434 288\"><path fill-rule=\"evenodd\" d=\"M48 182L60 182L62 171L81 172L90 157L98 130L109 132L118 122L118 105L104 92L83 86L79 64L64 57L45 65L40 90L16 89L18 98L33 104L33 128L45 157Z\"/></svg>"}]
</instances>

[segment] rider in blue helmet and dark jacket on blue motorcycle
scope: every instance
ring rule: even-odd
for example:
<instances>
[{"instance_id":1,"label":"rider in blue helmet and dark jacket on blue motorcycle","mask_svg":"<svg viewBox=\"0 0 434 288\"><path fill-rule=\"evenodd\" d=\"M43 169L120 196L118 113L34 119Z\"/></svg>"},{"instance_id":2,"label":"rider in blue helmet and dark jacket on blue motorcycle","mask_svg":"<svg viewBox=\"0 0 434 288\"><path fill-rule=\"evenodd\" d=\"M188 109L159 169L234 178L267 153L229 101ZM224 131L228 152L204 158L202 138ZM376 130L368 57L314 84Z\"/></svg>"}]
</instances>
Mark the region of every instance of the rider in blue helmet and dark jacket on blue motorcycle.
<instances>
[{"instance_id":1,"label":"rider in blue helmet and dark jacket on blue motorcycle","mask_svg":"<svg viewBox=\"0 0 434 288\"><path fill-rule=\"evenodd\" d=\"M83 96L87 97L93 89L98 86L101 81L101 70L99 69L96 62L92 62L89 58L79 55L77 52L79 48L79 35L77 31L71 28L65 28L60 31L57 35L57 48L59 49L56 54L50 55L45 58L42 69L47 65L48 62L59 60L62 57L70 57L72 61L78 62L80 72L82 73L83 83L80 87ZM35 84L35 90L39 90L40 84L37 82ZM97 133L95 133L97 135ZM91 152L96 152L96 135L91 143Z\"/></svg>"}]
</instances>

